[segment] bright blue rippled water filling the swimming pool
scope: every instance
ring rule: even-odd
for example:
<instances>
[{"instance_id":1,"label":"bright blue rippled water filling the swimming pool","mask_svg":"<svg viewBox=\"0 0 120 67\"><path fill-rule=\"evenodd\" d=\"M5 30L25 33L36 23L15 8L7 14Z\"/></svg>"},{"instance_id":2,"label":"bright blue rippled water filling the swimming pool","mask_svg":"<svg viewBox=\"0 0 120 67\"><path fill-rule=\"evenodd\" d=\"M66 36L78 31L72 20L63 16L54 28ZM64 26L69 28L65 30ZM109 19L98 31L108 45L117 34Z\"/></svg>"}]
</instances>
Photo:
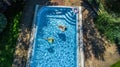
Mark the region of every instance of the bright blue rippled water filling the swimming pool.
<instances>
[{"instance_id":1,"label":"bright blue rippled water filling the swimming pool","mask_svg":"<svg viewBox=\"0 0 120 67\"><path fill-rule=\"evenodd\" d=\"M38 9L30 67L77 67L77 10L73 7ZM59 26L66 27L65 31Z\"/></svg>"}]
</instances>

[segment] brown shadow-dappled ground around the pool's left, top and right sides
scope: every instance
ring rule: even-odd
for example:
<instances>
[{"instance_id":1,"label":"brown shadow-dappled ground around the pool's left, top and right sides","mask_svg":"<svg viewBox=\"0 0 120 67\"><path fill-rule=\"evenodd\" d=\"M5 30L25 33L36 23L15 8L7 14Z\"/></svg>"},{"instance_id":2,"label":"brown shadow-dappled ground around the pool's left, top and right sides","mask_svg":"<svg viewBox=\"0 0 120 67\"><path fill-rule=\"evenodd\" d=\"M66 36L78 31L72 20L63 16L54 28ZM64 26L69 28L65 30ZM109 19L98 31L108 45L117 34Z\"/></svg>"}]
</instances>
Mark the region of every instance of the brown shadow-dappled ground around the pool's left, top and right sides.
<instances>
[{"instance_id":1,"label":"brown shadow-dappled ground around the pool's left, top and right sides","mask_svg":"<svg viewBox=\"0 0 120 67\"><path fill-rule=\"evenodd\" d=\"M110 67L120 59L115 44L100 35L94 12L81 0L27 0L12 67L26 67L35 5L82 6L85 67Z\"/></svg>"}]
</instances>

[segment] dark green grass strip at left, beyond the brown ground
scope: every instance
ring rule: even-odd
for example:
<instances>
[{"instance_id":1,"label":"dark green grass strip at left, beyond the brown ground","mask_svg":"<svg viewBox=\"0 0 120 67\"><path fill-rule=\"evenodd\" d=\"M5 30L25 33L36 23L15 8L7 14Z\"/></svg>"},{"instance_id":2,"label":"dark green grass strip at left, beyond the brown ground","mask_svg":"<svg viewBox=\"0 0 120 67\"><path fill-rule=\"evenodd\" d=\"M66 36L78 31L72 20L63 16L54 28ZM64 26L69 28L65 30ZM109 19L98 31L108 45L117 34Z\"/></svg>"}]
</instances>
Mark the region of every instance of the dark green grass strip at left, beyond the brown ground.
<instances>
[{"instance_id":1,"label":"dark green grass strip at left, beyond the brown ground","mask_svg":"<svg viewBox=\"0 0 120 67\"><path fill-rule=\"evenodd\" d=\"M22 12L19 12L13 18L9 18L7 27L0 34L0 67L11 67L12 65L21 15Z\"/></svg>"}]
</instances>

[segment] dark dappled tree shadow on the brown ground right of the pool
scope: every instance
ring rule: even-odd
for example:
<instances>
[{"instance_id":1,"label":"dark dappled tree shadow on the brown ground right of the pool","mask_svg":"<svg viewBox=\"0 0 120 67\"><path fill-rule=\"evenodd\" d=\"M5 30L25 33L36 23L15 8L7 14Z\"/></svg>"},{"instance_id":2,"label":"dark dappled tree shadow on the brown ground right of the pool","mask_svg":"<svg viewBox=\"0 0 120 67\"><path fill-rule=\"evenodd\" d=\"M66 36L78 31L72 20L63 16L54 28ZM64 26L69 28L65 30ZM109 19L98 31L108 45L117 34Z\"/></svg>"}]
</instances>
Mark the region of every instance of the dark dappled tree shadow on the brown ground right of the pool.
<instances>
[{"instance_id":1,"label":"dark dappled tree shadow on the brown ground right of the pool","mask_svg":"<svg viewBox=\"0 0 120 67\"><path fill-rule=\"evenodd\" d=\"M84 41L84 53L85 59L92 58L93 56L99 60L104 60L104 52L106 50L104 41L97 37L97 32L94 27L92 19L97 16L98 7L94 8L89 2L83 1L84 7L82 13L87 10L89 13L83 20L83 41Z\"/></svg>"}]
</instances>

